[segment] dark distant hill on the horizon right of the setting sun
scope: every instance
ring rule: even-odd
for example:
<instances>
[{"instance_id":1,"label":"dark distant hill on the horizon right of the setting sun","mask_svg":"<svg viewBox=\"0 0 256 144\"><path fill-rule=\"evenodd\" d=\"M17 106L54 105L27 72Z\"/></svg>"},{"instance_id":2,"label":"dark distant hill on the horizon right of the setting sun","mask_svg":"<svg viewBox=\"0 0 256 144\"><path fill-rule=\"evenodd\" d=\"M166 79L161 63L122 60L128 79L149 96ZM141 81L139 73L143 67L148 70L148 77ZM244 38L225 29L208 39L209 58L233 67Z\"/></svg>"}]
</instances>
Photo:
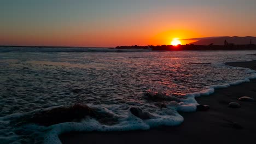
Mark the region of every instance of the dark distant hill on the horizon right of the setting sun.
<instances>
[{"instance_id":1,"label":"dark distant hill on the horizon right of the setting sun","mask_svg":"<svg viewBox=\"0 0 256 144\"><path fill-rule=\"evenodd\" d=\"M235 44L235 45L248 45L252 40L252 44L256 44L256 37L216 37L216 38L206 38L196 41L194 45L224 45L224 41L227 41L228 44Z\"/></svg>"}]
</instances>

